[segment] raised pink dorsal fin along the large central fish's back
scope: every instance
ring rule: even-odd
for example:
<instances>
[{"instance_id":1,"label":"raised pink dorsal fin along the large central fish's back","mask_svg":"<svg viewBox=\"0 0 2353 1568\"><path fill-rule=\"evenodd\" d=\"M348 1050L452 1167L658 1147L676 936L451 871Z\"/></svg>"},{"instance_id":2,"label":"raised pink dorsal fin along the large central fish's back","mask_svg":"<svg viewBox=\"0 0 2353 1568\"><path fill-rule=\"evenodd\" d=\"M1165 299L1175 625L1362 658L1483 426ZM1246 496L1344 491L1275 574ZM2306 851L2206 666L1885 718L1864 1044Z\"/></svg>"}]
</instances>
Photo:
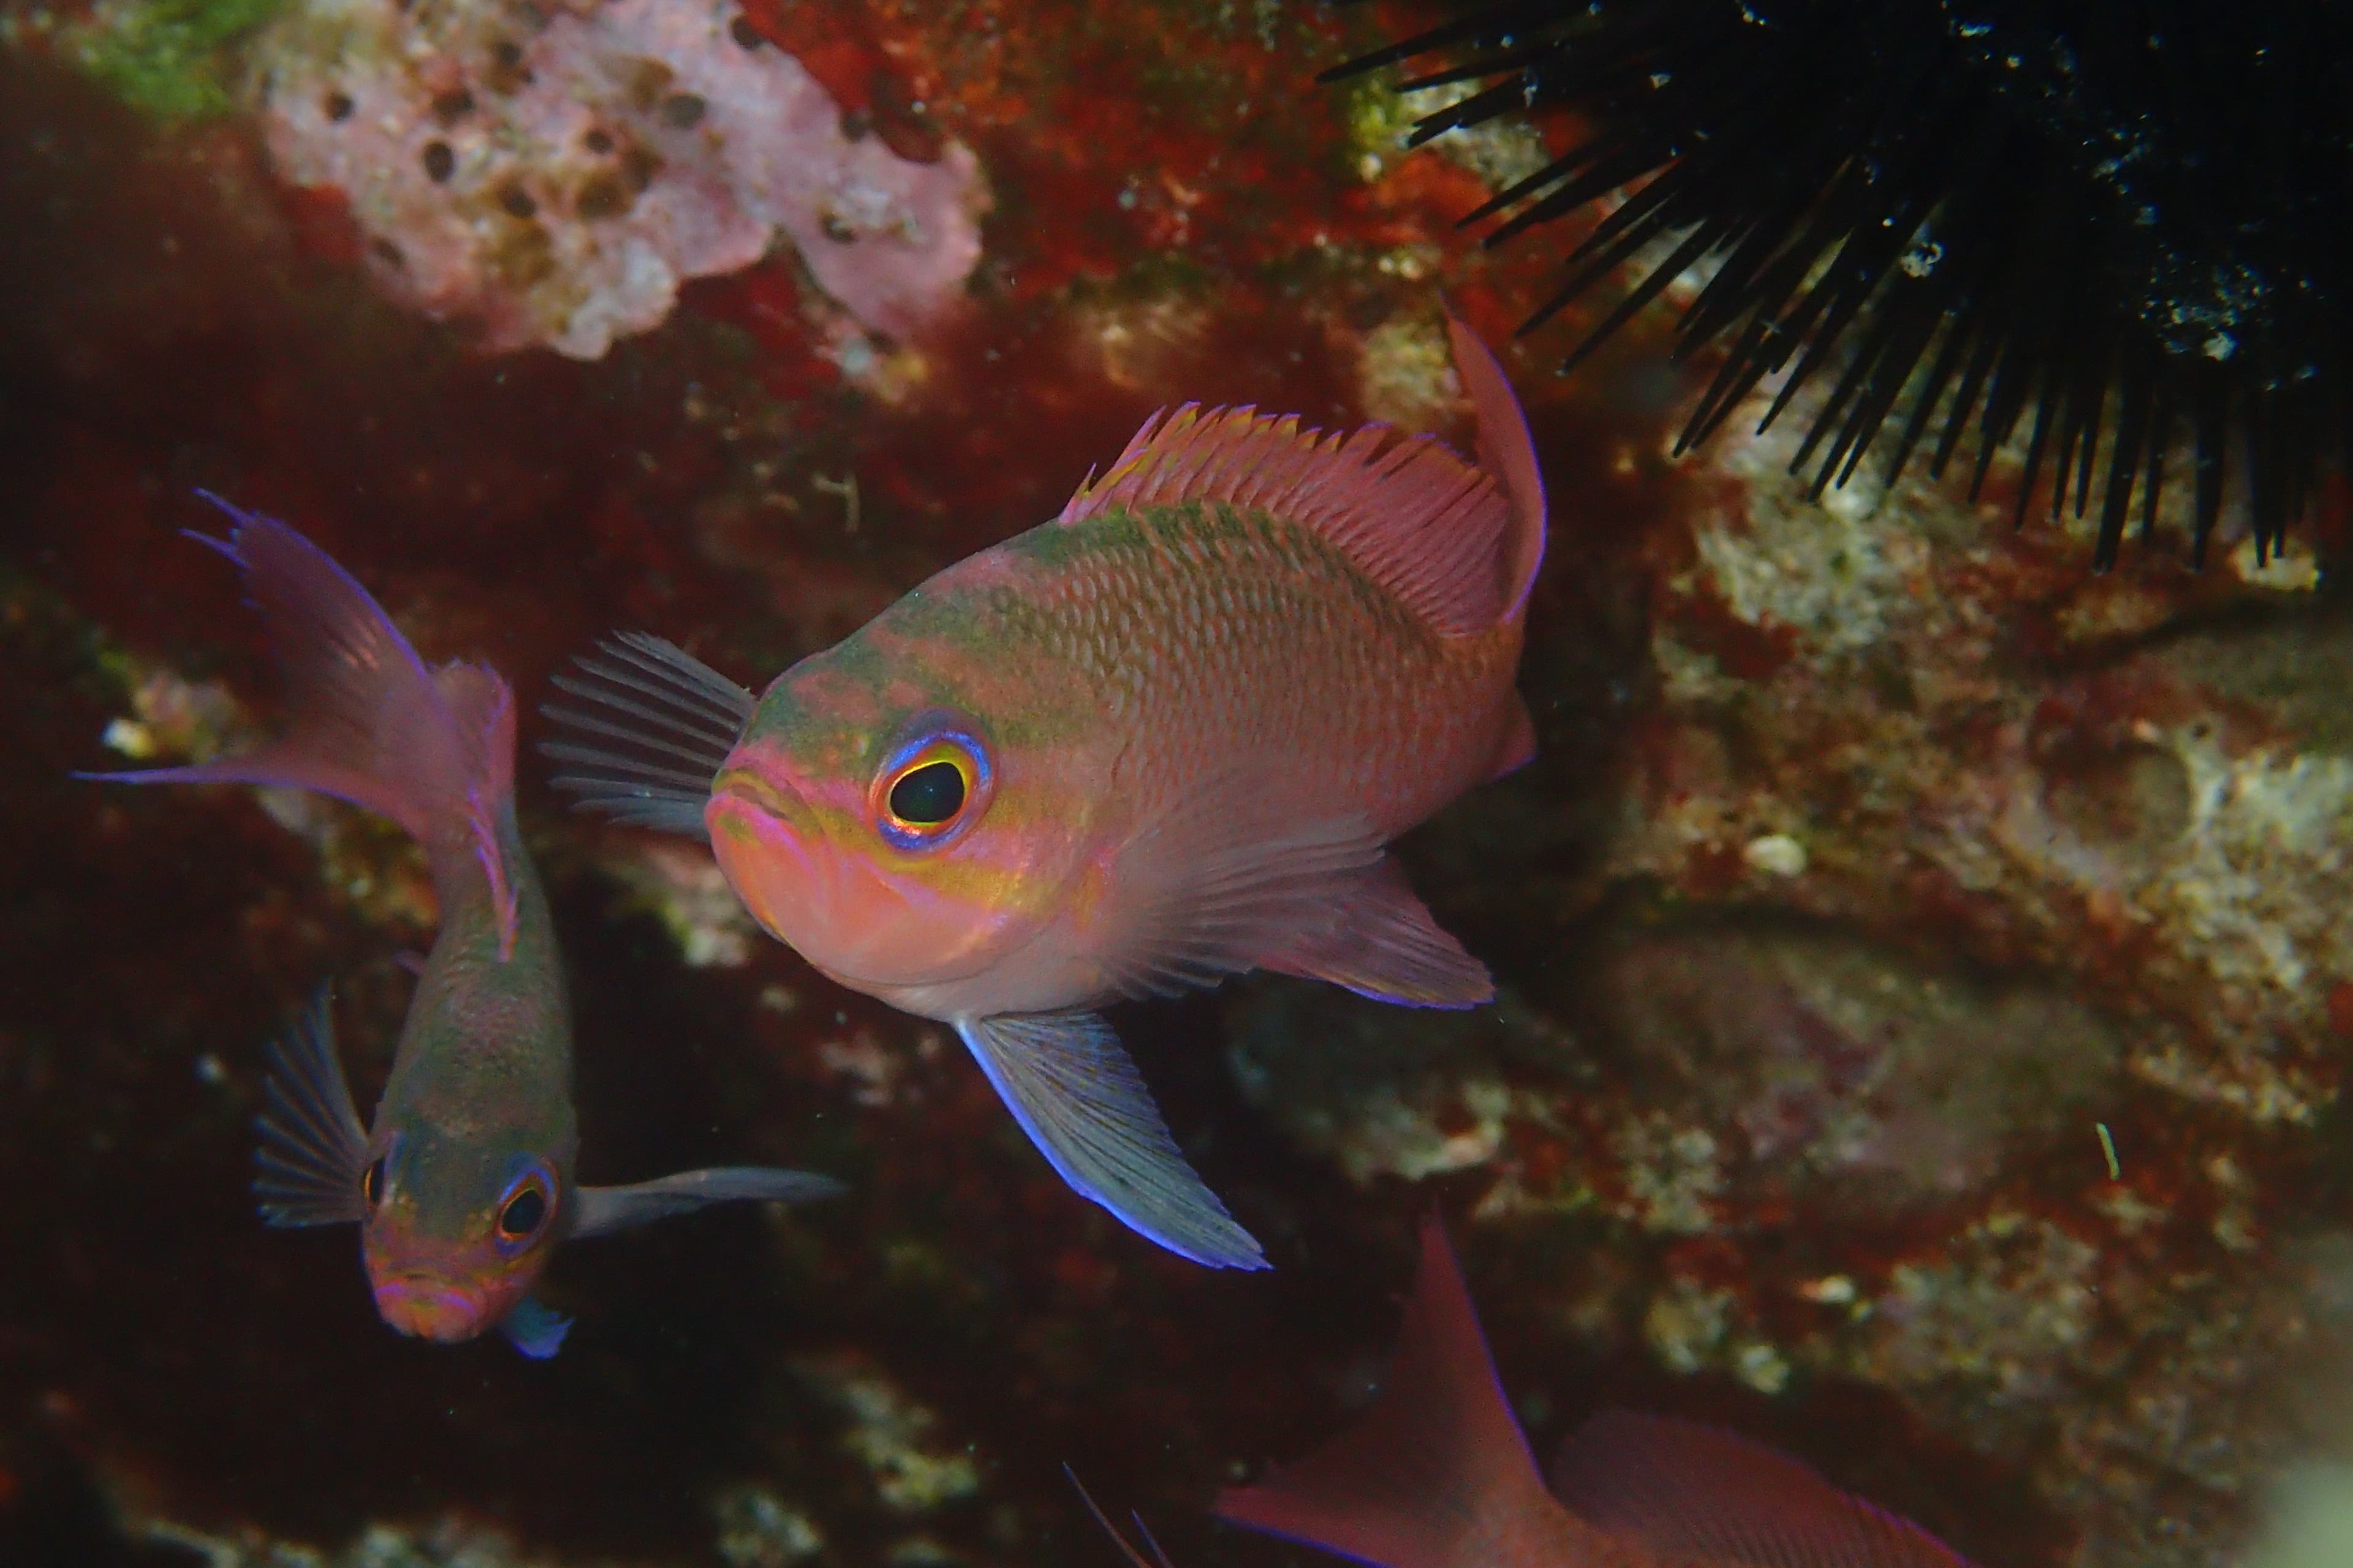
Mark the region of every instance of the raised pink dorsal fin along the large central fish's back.
<instances>
[{"instance_id":1,"label":"raised pink dorsal fin along the large central fish's back","mask_svg":"<svg viewBox=\"0 0 2353 1568\"><path fill-rule=\"evenodd\" d=\"M1184 501L1266 510L1329 538L1435 630L1485 632L1527 599L1544 555L1544 487L1504 371L1452 317L1449 334L1494 473L1388 425L1327 435L1301 430L1297 416L1184 404L1144 421L1111 473L1078 487L1059 522ZM1497 425L1492 440L1487 425Z\"/></svg>"}]
</instances>

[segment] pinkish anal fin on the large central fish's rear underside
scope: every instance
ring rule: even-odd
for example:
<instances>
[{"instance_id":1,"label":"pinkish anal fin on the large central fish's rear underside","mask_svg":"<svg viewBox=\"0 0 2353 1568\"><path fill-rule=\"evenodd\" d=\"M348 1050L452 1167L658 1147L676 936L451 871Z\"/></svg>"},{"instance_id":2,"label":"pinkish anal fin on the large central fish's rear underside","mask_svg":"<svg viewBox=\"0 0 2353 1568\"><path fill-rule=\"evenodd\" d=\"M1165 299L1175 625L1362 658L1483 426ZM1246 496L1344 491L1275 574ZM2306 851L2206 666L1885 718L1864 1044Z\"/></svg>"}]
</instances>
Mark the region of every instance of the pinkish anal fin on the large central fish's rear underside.
<instances>
[{"instance_id":1,"label":"pinkish anal fin on the large central fish's rear underside","mask_svg":"<svg viewBox=\"0 0 2353 1568\"><path fill-rule=\"evenodd\" d=\"M1329 898L1332 919L1301 931L1292 947L1266 959L1266 969L1398 1006L1494 1001L1487 966L1440 929L1391 856L1334 879Z\"/></svg>"}]
</instances>

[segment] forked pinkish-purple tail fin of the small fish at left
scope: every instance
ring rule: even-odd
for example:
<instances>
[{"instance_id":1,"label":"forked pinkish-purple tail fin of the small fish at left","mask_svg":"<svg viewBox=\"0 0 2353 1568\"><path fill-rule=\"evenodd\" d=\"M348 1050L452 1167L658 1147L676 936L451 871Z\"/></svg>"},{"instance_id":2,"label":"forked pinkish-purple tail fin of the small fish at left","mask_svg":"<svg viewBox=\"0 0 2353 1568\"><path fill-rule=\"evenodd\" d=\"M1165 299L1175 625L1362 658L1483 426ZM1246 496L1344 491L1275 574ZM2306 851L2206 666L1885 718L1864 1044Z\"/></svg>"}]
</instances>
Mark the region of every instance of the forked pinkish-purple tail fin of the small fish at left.
<instances>
[{"instance_id":1,"label":"forked pinkish-purple tail fin of the small fish at left","mask_svg":"<svg viewBox=\"0 0 2353 1568\"><path fill-rule=\"evenodd\" d=\"M480 875L513 943L513 879L499 823L513 799L515 701L487 668L426 670L384 609L334 559L273 517L228 512L226 541L278 644L287 733L184 769L85 773L113 783L252 783L318 790L379 811L426 846L447 905Z\"/></svg>"}]
</instances>

